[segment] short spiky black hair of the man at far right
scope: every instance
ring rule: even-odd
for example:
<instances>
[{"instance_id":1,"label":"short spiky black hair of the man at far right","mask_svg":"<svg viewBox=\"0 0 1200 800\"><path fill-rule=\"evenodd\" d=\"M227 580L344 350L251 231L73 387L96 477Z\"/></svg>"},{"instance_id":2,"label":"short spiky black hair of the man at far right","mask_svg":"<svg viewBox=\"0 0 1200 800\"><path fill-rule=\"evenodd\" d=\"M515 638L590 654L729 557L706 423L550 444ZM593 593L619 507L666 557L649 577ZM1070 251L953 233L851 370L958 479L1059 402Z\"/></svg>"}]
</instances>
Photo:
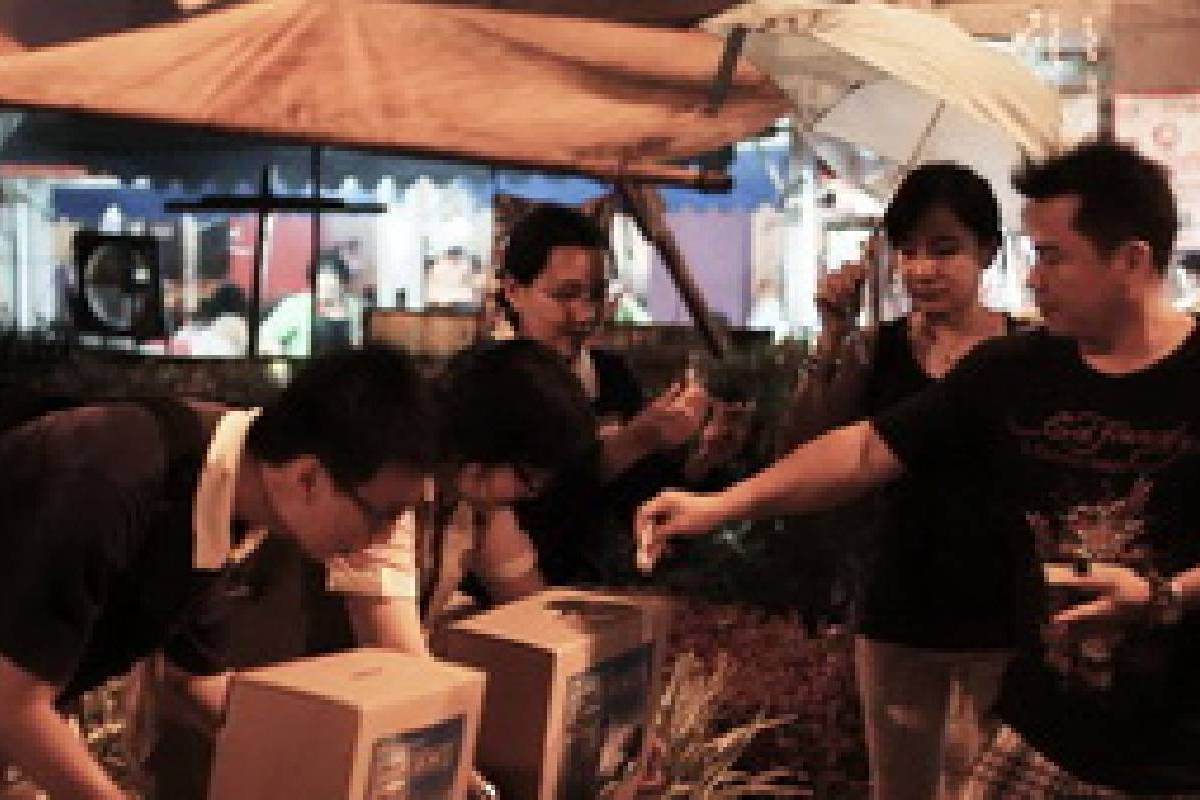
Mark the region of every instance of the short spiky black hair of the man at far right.
<instances>
[{"instance_id":1,"label":"short spiky black hair of the man at far right","mask_svg":"<svg viewBox=\"0 0 1200 800\"><path fill-rule=\"evenodd\" d=\"M1128 241L1145 241L1154 266L1166 272L1180 227L1166 168L1132 145L1093 139L1013 175L1031 200L1079 198L1074 228L1105 255Z\"/></svg>"}]
</instances>

